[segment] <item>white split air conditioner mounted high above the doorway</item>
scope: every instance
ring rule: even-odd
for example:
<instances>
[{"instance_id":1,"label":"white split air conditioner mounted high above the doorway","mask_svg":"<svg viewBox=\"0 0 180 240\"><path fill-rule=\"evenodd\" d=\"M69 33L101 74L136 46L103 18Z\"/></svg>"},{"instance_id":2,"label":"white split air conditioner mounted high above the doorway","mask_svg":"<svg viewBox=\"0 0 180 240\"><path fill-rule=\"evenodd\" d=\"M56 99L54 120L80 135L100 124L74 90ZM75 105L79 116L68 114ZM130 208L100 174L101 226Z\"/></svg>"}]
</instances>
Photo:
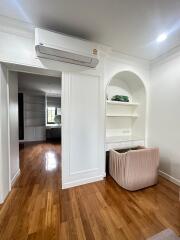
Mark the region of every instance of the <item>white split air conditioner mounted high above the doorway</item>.
<instances>
[{"instance_id":1,"label":"white split air conditioner mounted high above the doorway","mask_svg":"<svg viewBox=\"0 0 180 240\"><path fill-rule=\"evenodd\" d=\"M91 68L99 62L96 44L39 28L35 29L35 48L40 58Z\"/></svg>"}]
</instances>

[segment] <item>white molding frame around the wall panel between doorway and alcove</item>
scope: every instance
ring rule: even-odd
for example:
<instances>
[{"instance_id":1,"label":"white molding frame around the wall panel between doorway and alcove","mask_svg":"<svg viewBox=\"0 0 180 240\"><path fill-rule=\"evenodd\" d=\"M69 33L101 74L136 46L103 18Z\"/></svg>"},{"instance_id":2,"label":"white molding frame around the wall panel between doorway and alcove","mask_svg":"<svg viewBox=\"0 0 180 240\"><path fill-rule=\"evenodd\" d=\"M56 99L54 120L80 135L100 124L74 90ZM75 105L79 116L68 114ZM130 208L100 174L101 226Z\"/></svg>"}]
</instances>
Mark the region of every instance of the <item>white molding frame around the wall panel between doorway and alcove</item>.
<instances>
[{"instance_id":1,"label":"white molding frame around the wall panel between doorway and alcove","mask_svg":"<svg viewBox=\"0 0 180 240\"><path fill-rule=\"evenodd\" d=\"M75 74L76 76L77 74ZM95 181L103 180L105 177L105 151L104 151L104 125L101 124L101 119L104 117L104 109L101 109L100 106L102 106L104 102L104 96L103 96L103 81L102 77L96 74L87 74L87 73L80 73L78 74L79 77L91 77L92 81L93 78L97 78L98 81L98 89L96 89L99 92L99 95L97 97L97 104L99 106L99 112L98 112L98 133L97 133L97 141L98 141L98 150L94 153L94 158L96 159L96 162L93 163L91 167L88 168L88 166L80 167L79 169L74 169L74 154L72 153L72 141L75 141L75 138L72 136L72 132L70 131L72 128L72 112L73 112L73 106L72 106L72 99L71 99L71 93L72 93L72 81L75 79L73 78L73 73L63 73L62 76L62 188L70 188L75 187L82 184L87 184ZM77 90L77 89L76 89ZM75 91L76 91L75 90ZM79 116L81 117L81 116ZM95 147L96 148L96 147ZM77 149L77 151L79 151Z\"/></svg>"}]
</instances>

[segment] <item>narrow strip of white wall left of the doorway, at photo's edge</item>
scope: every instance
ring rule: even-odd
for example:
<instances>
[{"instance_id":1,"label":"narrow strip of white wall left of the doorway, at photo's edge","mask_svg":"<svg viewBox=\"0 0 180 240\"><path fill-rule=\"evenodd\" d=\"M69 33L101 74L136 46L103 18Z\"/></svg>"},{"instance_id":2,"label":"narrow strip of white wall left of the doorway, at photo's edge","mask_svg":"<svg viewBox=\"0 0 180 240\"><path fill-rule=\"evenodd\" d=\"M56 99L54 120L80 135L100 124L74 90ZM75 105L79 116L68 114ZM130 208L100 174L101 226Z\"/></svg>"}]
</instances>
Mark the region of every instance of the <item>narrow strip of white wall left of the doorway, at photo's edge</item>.
<instances>
[{"instance_id":1,"label":"narrow strip of white wall left of the doorway, at photo's edge","mask_svg":"<svg viewBox=\"0 0 180 240\"><path fill-rule=\"evenodd\" d=\"M0 64L0 203L10 190L7 69Z\"/></svg>"}]
</instances>

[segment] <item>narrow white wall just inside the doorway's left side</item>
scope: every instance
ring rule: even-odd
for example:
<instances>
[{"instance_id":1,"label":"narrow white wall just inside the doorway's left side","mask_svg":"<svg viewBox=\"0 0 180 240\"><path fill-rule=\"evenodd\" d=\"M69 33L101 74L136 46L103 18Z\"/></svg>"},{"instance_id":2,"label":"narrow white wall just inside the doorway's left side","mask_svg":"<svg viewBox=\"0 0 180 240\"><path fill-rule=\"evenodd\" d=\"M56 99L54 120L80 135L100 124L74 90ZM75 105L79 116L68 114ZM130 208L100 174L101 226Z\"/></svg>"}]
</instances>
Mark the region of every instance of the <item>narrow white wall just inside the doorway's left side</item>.
<instances>
[{"instance_id":1,"label":"narrow white wall just inside the doorway's left side","mask_svg":"<svg viewBox=\"0 0 180 240\"><path fill-rule=\"evenodd\" d=\"M18 76L9 72L9 131L11 183L19 173Z\"/></svg>"}]
</instances>

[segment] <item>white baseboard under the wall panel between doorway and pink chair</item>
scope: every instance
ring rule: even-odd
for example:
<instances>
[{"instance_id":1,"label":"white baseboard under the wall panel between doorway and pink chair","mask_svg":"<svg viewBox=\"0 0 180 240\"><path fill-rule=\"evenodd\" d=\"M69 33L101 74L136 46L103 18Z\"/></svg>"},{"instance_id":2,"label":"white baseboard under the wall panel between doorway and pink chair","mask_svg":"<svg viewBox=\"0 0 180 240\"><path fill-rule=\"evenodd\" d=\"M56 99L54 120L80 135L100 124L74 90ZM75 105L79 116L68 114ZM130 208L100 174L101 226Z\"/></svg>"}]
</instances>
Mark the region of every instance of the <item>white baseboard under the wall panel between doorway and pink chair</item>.
<instances>
[{"instance_id":1,"label":"white baseboard under the wall panel between doorway and pink chair","mask_svg":"<svg viewBox=\"0 0 180 240\"><path fill-rule=\"evenodd\" d=\"M102 181L104 179L106 175L100 175L100 176L93 176L93 177L89 177L89 178L83 178L81 180L75 180L72 182L66 182L62 184L62 189L66 189L66 188L71 188L71 187L76 187L76 186L80 186L80 185L84 185L87 183L93 183L93 182L97 182L97 181Z\"/></svg>"}]
</instances>

